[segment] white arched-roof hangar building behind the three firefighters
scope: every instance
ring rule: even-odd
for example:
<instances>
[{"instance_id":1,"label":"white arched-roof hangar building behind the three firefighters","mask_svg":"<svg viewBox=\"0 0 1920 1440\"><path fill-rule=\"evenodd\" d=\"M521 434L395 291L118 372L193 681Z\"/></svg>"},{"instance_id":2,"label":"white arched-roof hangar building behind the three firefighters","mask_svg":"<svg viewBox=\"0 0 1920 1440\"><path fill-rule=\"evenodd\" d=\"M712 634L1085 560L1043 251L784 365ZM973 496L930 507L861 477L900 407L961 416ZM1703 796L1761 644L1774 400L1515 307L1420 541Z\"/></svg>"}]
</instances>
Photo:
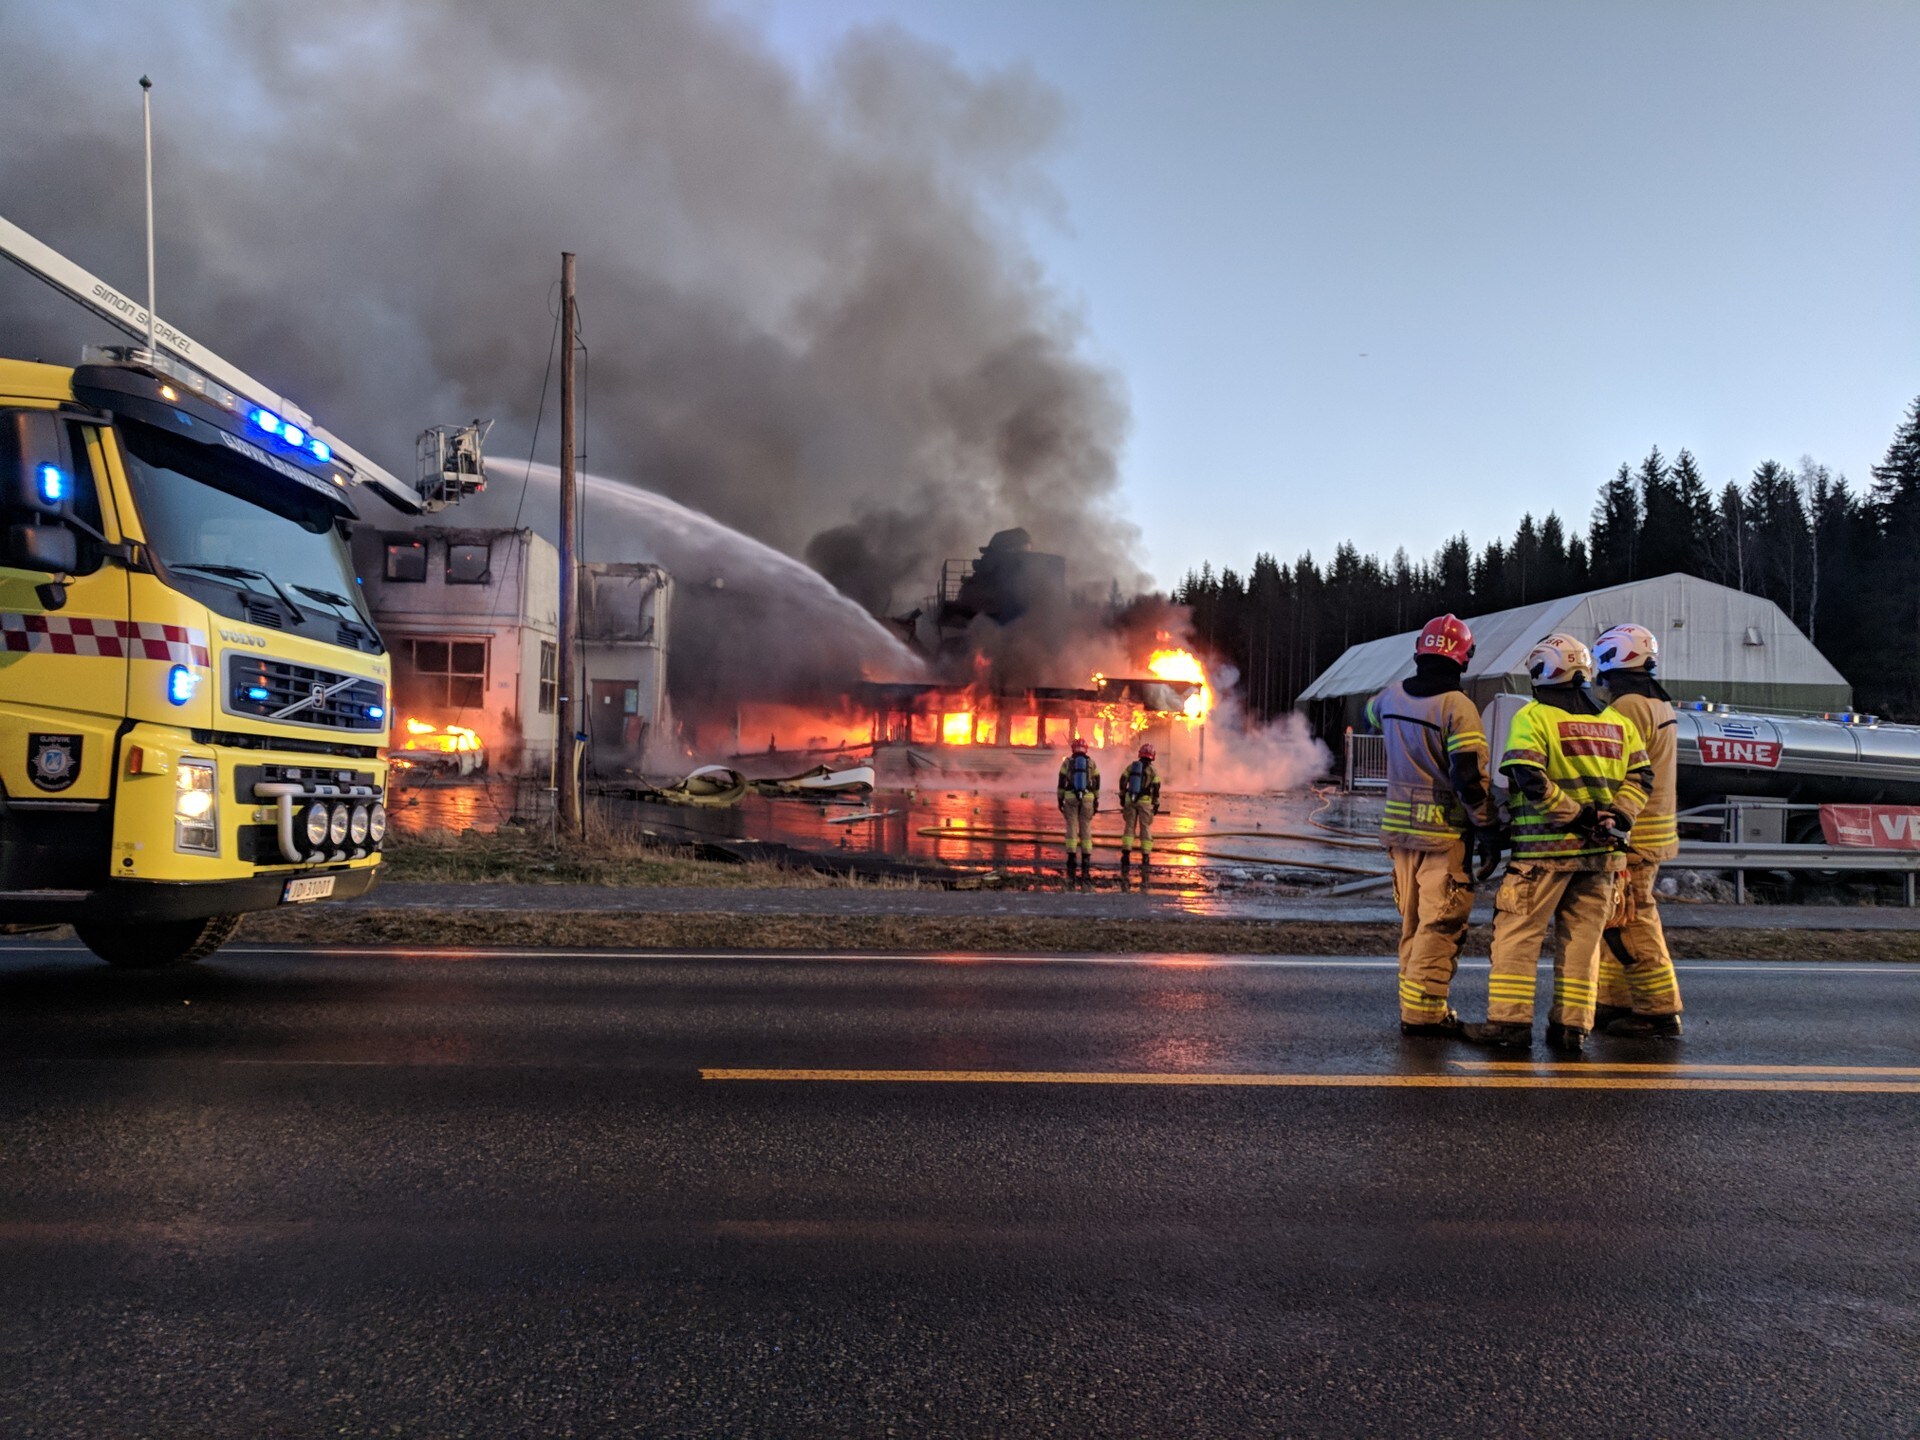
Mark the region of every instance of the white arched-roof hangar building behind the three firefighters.
<instances>
[{"instance_id":1,"label":"white arched-roof hangar building behind the three firefighters","mask_svg":"<svg viewBox=\"0 0 1920 1440\"><path fill-rule=\"evenodd\" d=\"M1592 643L1617 624L1659 636L1661 684L1676 701L1716 701L1759 710L1845 710L1853 687L1768 599L1690 574L1665 574L1590 589L1494 614L1463 616L1475 657L1467 695L1486 708L1496 695L1526 695L1526 653L1565 632ZM1361 724L1367 699L1413 674L1417 630L1350 647L1300 695L1321 733Z\"/></svg>"}]
</instances>

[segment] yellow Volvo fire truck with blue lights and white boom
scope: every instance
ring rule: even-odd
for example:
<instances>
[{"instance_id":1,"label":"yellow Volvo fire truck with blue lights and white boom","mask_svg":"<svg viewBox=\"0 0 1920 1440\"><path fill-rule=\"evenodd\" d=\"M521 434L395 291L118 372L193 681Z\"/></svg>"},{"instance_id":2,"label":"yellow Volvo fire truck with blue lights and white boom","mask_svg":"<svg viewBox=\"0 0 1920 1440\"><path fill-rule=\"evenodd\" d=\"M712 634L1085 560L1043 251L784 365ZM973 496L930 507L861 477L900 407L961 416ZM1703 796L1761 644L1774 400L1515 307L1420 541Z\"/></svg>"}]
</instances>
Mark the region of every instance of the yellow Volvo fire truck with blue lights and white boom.
<instances>
[{"instance_id":1,"label":"yellow Volvo fire truck with blue lights and white boom","mask_svg":"<svg viewBox=\"0 0 1920 1440\"><path fill-rule=\"evenodd\" d=\"M152 968L363 895L390 674L348 492L419 493L6 221L0 255L165 336L0 359L0 927Z\"/></svg>"}]
</instances>

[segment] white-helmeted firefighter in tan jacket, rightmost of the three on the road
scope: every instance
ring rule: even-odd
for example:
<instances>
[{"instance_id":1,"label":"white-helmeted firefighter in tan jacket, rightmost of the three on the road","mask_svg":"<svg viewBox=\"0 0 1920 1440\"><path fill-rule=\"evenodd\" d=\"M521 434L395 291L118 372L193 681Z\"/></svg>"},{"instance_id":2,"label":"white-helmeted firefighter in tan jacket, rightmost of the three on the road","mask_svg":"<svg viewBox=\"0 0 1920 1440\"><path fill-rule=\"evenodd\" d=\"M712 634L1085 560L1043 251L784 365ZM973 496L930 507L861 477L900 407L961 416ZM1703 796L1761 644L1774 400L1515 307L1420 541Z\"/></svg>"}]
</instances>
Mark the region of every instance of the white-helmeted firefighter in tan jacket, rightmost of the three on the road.
<instances>
[{"instance_id":1,"label":"white-helmeted firefighter in tan jacket, rightmost of the three on the road","mask_svg":"<svg viewBox=\"0 0 1920 1440\"><path fill-rule=\"evenodd\" d=\"M1594 641L1597 685L1607 703L1634 722L1653 762L1653 799L1634 820L1634 849L1626 852L1626 895L1615 902L1615 924L1607 925L1607 945L1599 952L1594 1025L1607 1035L1680 1035L1680 977L1667 954L1667 931L1653 895L1661 860L1680 852L1680 826L1674 822L1680 808L1674 780L1678 726L1672 697L1653 678L1659 653L1653 632L1634 624L1615 626Z\"/></svg>"}]
</instances>

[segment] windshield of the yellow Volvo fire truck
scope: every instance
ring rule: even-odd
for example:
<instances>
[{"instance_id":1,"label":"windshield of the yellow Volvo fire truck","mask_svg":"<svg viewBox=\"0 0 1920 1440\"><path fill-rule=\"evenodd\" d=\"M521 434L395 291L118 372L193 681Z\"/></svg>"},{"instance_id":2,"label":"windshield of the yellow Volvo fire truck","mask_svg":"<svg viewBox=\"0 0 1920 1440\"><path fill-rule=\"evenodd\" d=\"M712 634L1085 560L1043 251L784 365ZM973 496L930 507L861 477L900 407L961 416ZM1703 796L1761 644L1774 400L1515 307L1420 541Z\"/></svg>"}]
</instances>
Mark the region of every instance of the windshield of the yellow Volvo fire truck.
<instances>
[{"instance_id":1,"label":"windshield of the yellow Volvo fire truck","mask_svg":"<svg viewBox=\"0 0 1920 1440\"><path fill-rule=\"evenodd\" d=\"M372 637L324 495L146 424L121 420L117 430L148 545L213 609L246 618L207 589L230 599L252 591L275 609L292 609L296 628L313 622L332 639L330 628L346 620Z\"/></svg>"}]
</instances>

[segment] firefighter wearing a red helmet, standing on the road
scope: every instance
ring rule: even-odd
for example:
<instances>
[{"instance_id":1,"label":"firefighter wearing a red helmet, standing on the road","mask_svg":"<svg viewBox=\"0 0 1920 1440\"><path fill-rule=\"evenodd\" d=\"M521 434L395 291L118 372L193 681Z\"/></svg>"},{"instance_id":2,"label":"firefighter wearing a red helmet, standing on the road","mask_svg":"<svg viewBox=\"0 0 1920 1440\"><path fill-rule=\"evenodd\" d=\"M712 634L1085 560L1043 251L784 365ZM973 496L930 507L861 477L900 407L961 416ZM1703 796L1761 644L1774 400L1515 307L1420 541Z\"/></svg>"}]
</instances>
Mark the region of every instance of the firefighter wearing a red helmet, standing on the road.
<instances>
[{"instance_id":1,"label":"firefighter wearing a red helmet, standing on the road","mask_svg":"<svg viewBox=\"0 0 1920 1440\"><path fill-rule=\"evenodd\" d=\"M1473 910L1473 856L1482 879L1500 864L1500 828L1480 712L1461 691L1473 632L1452 614L1428 620L1413 678L1367 701L1386 739L1386 818L1400 906L1400 1033L1459 1035L1448 1004Z\"/></svg>"}]
</instances>

